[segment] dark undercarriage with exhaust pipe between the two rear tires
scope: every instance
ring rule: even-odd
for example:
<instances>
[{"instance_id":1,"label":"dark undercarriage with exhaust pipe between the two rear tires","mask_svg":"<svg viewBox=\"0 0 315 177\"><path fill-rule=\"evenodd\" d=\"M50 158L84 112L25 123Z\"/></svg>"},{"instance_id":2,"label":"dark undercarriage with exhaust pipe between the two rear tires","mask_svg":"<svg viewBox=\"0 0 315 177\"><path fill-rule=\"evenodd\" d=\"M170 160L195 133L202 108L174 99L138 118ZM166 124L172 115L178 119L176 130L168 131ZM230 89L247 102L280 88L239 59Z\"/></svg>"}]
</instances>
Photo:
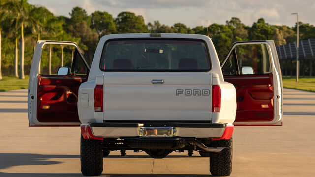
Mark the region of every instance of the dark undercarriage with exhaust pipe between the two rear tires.
<instances>
[{"instance_id":1,"label":"dark undercarriage with exhaust pipe between the two rear tires","mask_svg":"<svg viewBox=\"0 0 315 177\"><path fill-rule=\"evenodd\" d=\"M200 146L200 147L199 147ZM126 155L126 150L134 152L145 151L152 158L163 158L169 153L188 151L221 152L225 147L211 146L211 139L195 139L194 137L175 137L175 138L143 138L143 137L122 137L122 138L104 138L102 149L104 156L110 151L120 150L121 155Z\"/></svg>"}]
</instances>

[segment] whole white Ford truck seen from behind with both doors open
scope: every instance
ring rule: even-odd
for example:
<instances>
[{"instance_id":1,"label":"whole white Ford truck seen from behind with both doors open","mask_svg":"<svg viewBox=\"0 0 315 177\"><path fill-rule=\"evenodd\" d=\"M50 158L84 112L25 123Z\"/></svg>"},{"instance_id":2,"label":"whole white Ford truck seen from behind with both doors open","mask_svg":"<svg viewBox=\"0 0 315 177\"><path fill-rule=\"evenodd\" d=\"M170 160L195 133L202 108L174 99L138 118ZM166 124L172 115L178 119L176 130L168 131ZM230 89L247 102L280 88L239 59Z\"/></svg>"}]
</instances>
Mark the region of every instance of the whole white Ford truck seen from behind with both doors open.
<instances>
[{"instance_id":1,"label":"whole white Ford truck seen from behind with both doors open","mask_svg":"<svg viewBox=\"0 0 315 177\"><path fill-rule=\"evenodd\" d=\"M45 45L75 48L71 65L41 74ZM29 126L81 126L83 175L100 175L113 150L153 158L194 150L210 157L213 176L228 176L234 126L282 125L275 44L236 42L220 64L204 35L113 34L89 67L76 43L38 41L28 118Z\"/></svg>"}]
</instances>

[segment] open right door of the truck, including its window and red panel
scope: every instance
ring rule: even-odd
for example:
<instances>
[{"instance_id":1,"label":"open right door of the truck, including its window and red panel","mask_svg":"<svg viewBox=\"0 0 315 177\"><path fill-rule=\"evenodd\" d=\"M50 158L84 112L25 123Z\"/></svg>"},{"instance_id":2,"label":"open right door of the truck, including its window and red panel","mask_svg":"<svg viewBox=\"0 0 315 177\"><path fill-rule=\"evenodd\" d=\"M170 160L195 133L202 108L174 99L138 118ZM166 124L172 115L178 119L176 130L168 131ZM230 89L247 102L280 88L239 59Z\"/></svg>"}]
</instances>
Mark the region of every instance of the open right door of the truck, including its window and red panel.
<instances>
[{"instance_id":1,"label":"open right door of the truck, including its window and red panel","mask_svg":"<svg viewBox=\"0 0 315 177\"><path fill-rule=\"evenodd\" d=\"M235 126L282 125L283 86L274 41L234 43L221 69L236 88Z\"/></svg>"}]
</instances>

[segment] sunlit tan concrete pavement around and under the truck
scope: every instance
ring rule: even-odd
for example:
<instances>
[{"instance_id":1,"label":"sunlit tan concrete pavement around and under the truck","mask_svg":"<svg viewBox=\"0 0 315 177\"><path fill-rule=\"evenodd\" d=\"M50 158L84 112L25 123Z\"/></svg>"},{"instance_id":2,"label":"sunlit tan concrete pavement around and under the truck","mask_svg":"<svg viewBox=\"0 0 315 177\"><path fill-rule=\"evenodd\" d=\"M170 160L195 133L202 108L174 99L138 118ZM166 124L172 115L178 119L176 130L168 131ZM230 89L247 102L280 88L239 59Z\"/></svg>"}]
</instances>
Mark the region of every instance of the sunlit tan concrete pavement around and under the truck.
<instances>
[{"instance_id":1,"label":"sunlit tan concrete pavement around and under the truck","mask_svg":"<svg viewBox=\"0 0 315 177\"><path fill-rule=\"evenodd\" d=\"M28 127L27 90L0 92L0 177L77 177L79 127ZM315 93L284 89L282 127L235 127L231 177L315 176ZM209 159L111 152L104 177L208 177Z\"/></svg>"}]
</instances>

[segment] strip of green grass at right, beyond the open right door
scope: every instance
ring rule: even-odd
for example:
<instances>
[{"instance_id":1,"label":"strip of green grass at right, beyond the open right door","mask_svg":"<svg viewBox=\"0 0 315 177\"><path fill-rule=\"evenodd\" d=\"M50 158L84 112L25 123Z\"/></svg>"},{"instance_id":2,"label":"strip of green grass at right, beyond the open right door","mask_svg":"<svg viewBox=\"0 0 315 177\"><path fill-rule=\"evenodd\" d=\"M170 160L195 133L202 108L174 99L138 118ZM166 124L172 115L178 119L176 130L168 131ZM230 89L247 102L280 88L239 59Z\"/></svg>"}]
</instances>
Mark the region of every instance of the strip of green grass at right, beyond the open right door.
<instances>
[{"instance_id":1,"label":"strip of green grass at right, beyond the open right door","mask_svg":"<svg viewBox=\"0 0 315 177\"><path fill-rule=\"evenodd\" d=\"M315 92L315 77L299 78L299 82L295 82L295 77L283 77L282 81L284 88Z\"/></svg>"}]
</instances>

